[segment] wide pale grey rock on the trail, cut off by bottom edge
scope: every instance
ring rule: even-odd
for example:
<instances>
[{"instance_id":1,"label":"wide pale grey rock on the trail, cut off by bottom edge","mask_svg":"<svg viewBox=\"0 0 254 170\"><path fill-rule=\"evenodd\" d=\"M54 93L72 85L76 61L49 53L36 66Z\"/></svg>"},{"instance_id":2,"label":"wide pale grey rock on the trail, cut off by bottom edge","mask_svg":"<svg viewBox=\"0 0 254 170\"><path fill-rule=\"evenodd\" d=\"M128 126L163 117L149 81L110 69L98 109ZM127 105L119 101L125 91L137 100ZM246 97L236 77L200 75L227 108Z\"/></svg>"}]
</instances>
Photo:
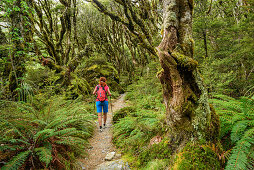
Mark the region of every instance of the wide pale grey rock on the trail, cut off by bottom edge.
<instances>
[{"instance_id":1,"label":"wide pale grey rock on the trail, cut off by bottom edge","mask_svg":"<svg viewBox=\"0 0 254 170\"><path fill-rule=\"evenodd\" d=\"M96 170L131 170L128 162L123 160L110 161L100 164Z\"/></svg>"}]
</instances>

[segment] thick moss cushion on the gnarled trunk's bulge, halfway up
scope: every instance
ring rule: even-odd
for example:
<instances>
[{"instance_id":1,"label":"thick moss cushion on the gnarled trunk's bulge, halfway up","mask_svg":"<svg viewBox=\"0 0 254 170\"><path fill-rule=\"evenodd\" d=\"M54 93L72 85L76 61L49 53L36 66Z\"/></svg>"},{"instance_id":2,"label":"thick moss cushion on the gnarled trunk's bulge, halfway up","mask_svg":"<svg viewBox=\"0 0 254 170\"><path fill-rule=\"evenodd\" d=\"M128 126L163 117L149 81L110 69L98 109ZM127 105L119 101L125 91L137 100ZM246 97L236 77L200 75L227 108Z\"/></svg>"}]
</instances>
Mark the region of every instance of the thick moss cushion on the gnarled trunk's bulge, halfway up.
<instances>
[{"instance_id":1,"label":"thick moss cushion on the gnarled trunk's bulge, halfway up","mask_svg":"<svg viewBox=\"0 0 254 170\"><path fill-rule=\"evenodd\" d=\"M177 51L172 52L172 56L177 60L177 64L181 67L187 68L189 71L196 69L198 62L184 54Z\"/></svg>"}]
</instances>

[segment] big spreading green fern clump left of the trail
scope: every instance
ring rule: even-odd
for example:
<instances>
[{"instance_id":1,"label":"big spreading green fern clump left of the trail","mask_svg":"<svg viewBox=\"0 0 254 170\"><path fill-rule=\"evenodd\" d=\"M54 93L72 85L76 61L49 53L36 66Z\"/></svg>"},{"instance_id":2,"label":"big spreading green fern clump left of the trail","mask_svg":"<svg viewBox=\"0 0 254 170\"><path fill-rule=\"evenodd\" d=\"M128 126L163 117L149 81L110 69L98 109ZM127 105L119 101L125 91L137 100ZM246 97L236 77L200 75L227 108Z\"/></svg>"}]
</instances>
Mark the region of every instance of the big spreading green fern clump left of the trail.
<instances>
[{"instance_id":1,"label":"big spreading green fern clump left of the trail","mask_svg":"<svg viewBox=\"0 0 254 170\"><path fill-rule=\"evenodd\" d=\"M31 104L0 101L0 167L78 168L77 158L84 156L93 132L94 115L81 98L38 98Z\"/></svg>"}]
</instances>

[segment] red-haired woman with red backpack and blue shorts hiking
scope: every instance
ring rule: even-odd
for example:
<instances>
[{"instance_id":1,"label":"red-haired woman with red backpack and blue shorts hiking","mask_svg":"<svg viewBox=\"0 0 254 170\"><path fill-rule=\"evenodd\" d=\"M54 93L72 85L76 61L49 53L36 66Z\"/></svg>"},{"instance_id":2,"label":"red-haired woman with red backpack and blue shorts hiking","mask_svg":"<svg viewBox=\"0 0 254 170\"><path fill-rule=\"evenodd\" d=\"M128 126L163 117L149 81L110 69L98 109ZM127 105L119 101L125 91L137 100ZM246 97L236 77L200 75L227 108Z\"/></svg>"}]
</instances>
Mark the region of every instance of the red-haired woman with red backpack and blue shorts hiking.
<instances>
[{"instance_id":1,"label":"red-haired woman with red backpack and blue shorts hiking","mask_svg":"<svg viewBox=\"0 0 254 170\"><path fill-rule=\"evenodd\" d=\"M107 113L108 113L108 98L107 94L111 96L109 87L106 84L106 78L101 77L99 84L94 88L93 94L97 94L96 108L98 113L98 122L100 126L100 132L102 132L102 108L103 108L103 125L106 127Z\"/></svg>"}]
</instances>

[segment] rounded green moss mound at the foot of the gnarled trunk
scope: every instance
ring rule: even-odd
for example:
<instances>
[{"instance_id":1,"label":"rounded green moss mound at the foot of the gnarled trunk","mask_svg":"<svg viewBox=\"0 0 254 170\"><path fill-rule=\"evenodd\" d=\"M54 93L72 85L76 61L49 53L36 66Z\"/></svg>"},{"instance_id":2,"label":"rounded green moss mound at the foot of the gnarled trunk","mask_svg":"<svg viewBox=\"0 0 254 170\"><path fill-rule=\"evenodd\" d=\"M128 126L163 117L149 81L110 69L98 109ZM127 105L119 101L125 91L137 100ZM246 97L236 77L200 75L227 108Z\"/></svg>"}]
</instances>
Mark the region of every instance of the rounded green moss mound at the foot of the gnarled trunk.
<instances>
[{"instance_id":1,"label":"rounded green moss mound at the foot of the gnarled trunk","mask_svg":"<svg viewBox=\"0 0 254 170\"><path fill-rule=\"evenodd\" d=\"M171 169L220 169L216 153L200 144L187 144L176 155Z\"/></svg>"}]
</instances>

